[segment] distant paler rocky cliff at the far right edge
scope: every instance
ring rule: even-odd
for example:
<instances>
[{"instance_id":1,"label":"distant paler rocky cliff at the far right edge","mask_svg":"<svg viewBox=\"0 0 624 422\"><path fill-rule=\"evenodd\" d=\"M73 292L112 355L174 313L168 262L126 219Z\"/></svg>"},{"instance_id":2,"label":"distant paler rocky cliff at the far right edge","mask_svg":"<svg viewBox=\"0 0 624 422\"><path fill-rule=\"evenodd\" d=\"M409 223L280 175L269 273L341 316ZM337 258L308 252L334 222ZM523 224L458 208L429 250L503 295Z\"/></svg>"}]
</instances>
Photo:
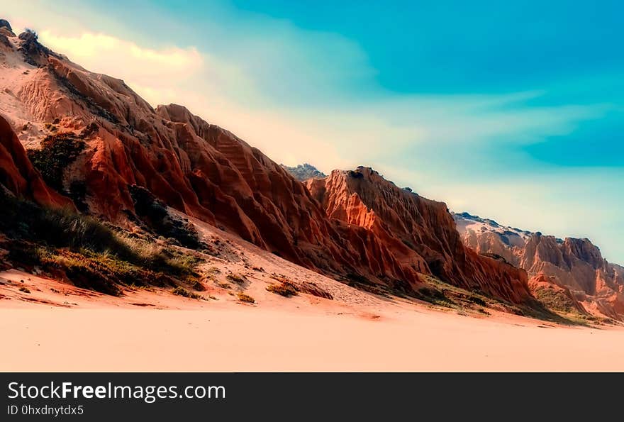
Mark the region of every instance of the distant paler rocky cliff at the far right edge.
<instances>
[{"instance_id":1,"label":"distant paler rocky cliff at the far right edge","mask_svg":"<svg viewBox=\"0 0 624 422\"><path fill-rule=\"evenodd\" d=\"M589 239L531 233L469 213L453 216L469 248L523 268L533 277L530 284L554 284L588 313L624 318L624 269L607 262Z\"/></svg>"}]
</instances>

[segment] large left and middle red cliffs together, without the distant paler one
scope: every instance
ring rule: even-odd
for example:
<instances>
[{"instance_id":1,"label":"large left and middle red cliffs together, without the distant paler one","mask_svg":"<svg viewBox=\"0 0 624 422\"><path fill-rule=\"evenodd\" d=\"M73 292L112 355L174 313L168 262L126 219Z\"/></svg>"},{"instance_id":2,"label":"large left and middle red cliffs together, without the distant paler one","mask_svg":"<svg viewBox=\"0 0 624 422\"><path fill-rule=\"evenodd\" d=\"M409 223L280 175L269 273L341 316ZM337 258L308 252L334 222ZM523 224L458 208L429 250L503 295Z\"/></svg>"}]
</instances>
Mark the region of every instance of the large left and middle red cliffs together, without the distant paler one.
<instances>
[{"instance_id":1,"label":"large left and middle red cliffs together, without the distant paler one","mask_svg":"<svg viewBox=\"0 0 624 422\"><path fill-rule=\"evenodd\" d=\"M523 270L464 248L445 204L363 168L306 187L183 106L154 109L122 80L85 70L34 33L16 36L5 27L0 35L0 112L41 170L28 177L28 165L11 170L5 183L12 189L35 199L48 192L53 198L40 201L50 204L67 196L84 213L130 227L141 223L138 193L149 191L172 209L336 279L410 292L422 286L419 274L433 274L533 303ZM41 178L63 196L35 189Z\"/></svg>"}]
</instances>

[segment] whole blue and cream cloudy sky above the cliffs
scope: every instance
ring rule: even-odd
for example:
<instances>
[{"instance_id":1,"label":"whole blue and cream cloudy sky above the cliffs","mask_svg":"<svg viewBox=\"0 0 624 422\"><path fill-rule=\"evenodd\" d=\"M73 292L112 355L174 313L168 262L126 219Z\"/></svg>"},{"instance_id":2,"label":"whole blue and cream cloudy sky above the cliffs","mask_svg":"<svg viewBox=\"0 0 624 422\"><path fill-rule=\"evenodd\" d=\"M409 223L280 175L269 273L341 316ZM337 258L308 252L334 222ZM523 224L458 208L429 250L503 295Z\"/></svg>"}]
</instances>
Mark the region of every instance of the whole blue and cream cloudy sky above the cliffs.
<instances>
[{"instance_id":1,"label":"whole blue and cream cloudy sky above the cliffs","mask_svg":"<svg viewBox=\"0 0 624 422\"><path fill-rule=\"evenodd\" d=\"M2 13L277 162L373 167L453 211L589 238L624 263L618 1L30 0Z\"/></svg>"}]
</instances>

